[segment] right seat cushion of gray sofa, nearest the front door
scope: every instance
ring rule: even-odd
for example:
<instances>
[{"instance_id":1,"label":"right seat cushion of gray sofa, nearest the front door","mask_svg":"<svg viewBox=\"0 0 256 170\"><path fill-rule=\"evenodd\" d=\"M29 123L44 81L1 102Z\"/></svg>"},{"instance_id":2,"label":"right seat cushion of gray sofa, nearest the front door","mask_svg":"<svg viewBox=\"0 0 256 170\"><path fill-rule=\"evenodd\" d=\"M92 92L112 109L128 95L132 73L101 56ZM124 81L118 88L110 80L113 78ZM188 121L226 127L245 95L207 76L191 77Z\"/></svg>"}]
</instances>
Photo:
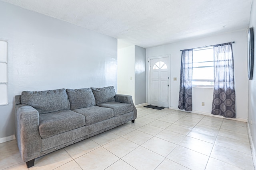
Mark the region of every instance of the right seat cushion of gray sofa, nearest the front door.
<instances>
[{"instance_id":1,"label":"right seat cushion of gray sofa, nearest the front door","mask_svg":"<svg viewBox=\"0 0 256 170\"><path fill-rule=\"evenodd\" d=\"M106 102L98 104L100 107L107 107L114 110L114 116L120 116L124 113L131 112L133 107L131 104L120 103L120 102Z\"/></svg>"}]
</instances>

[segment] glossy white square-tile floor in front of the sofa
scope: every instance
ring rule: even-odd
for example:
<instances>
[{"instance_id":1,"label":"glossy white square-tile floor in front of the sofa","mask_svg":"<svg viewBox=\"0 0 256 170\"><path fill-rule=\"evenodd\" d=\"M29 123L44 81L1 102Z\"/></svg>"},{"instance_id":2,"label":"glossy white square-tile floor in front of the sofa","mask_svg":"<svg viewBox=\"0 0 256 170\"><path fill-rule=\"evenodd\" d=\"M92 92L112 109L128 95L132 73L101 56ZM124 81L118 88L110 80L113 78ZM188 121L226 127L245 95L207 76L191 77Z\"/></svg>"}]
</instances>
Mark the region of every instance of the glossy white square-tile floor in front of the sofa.
<instances>
[{"instance_id":1,"label":"glossy white square-tile floor in front of the sofa","mask_svg":"<svg viewBox=\"0 0 256 170\"><path fill-rule=\"evenodd\" d=\"M245 122L137 109L135 123L36 158L30 170L254 170ZM2 169L27 169L16 140L0 144Z\"/></svg>"}]
</instances>

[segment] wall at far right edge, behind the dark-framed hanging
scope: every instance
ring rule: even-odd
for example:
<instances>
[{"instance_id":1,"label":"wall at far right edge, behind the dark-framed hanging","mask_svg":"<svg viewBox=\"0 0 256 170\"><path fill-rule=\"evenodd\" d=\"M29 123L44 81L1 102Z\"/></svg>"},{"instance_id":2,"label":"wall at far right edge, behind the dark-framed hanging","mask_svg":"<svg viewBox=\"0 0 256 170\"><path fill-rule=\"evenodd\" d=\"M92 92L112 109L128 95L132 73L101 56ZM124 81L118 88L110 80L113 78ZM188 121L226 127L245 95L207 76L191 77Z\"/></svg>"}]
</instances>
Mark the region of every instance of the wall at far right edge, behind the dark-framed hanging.
<instances>
[{"instance_id":1,"label":"wall at far right edge, behind the dark-framed hanging","mask_svg":"<svg viewBox=\"0 0 256 170\"><path fill-rule=\"evenodd\" d=\"M256 2L252 2L252 10L249 27L254 30L254 69L252 80L249 80L249 98L248 98L248 122L254 148L256 147ZM250 122L252 121L252 125ZM254 150L255 152L255 150Z\"/></svg>"}]
</instances>

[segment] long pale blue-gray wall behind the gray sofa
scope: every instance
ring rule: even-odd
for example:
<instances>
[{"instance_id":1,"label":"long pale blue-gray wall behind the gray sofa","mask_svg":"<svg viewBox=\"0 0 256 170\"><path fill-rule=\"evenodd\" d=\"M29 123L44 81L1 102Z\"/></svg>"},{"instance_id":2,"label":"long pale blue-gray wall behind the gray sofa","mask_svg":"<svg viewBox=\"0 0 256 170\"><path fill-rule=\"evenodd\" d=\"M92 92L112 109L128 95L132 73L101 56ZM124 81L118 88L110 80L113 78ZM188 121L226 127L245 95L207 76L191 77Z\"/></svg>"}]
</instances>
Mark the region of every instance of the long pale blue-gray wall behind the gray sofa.
<instances>
[{"instance_id":1,"label":"long pale blue-gray wall behind the gray sofa","mask_svg":"<svg viewBox=\"0 0 256 170\"><path fill-rule=\"evenodd\" d=\"M14 96L24 90L117 88L117 39L0 1L8 40L8 106L0 139L14 134Z\"/></svg>"}]
</instances>

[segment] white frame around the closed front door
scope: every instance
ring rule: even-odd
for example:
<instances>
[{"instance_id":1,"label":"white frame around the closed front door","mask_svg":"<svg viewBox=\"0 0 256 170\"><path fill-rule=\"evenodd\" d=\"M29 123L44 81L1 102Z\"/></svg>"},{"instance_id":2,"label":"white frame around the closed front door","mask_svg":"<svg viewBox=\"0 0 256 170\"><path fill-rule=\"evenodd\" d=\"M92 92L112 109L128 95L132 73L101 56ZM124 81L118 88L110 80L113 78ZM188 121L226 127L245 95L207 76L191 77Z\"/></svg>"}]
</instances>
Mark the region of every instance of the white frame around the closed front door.
<instances>
[{"instance_id":1,"label":"white frame around the closed front door","mask_svg":"<svg viewBox=\"0 0 256 170\"><path fill-rule=\"evenodd\" d=\"M168 62L169 62L169 96L168 96L168 108L170 108L171 104L171 55L160 55L160 56L154 56L154 57L148 57L147 58L147 103L150 105L150 64L152 59L160 59L160 58L166 58L168 57Z\"/></svg>"}]
</instances>

